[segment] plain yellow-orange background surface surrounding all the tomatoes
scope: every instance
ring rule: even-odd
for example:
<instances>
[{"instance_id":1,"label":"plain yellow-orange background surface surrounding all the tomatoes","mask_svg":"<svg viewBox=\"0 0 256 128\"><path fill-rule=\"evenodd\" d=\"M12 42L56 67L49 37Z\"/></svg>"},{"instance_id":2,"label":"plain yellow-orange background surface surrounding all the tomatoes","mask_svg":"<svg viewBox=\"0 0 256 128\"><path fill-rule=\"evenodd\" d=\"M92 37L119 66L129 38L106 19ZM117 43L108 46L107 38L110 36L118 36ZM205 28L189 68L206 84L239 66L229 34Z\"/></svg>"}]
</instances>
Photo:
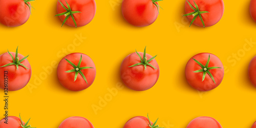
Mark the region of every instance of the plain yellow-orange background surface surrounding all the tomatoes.
<instances>
[{"instance_id":1,"label":"plain yellow-orange background surface surrounding all the tomatoes","mask_svg":"<svg viewBox=\"0 0 256 128\"><path fill-rule=\"evenodd\" d=\"M250 84L247 68L256 48L245 40L256 41L256 23L249 14L249 0L224 0L225 11L218 24L200 28L189 23L184 14L183 1L159 2L163 8L156 22L138 28L126 23L121 14L121 0L96 1L97 11L90 24L80 28L64 25L56 14L57 1L31 2L35 8L28 22L20 27L0 25L0 53L15 52L30 55L32 67L29 84L22 90L9 92L9 115L22 115L24 121L36 127L58 127L66 118L82 116L95 127L122 127L134 116L150 115L160 126L186 127L194 118L210 116L223 127L250 127L255 116L256 88ZM114 4L114 5L113 5ZM177 29L176 25L181 28ZM81 44L76 35L87 37ZM255 44L254 44L255 45ZM121 82L119 68L123 58L135 49L158 55L160 77L147 91L136 92L124 87L118 90L97 114L92 105L99 105L100 97L109 95L108 89ZM74 49L71 49L74 48ZM64 49L64 51L62 51ZM65 52L65 49L68 49ZM249 50L248 50L249 49ZM37 77L44 75L44 67L59 62L64 55L81 52L89 55L97 70L92 86L72 92L63 88L57 79L56 67L45 75L40 84ZM217 55L225 66L220 86L212 91L198 92L185 79L186 62L201 52ZM240 55L234 59L232 54ZM234 63L236 61L236 63ZM29 87L36 87L29 90ZM4 95L4 90L0 93ZM0 101L4 108L4 101ZM1 118L4 110L1 109ZM165 125L165 124L172 125Z\"/></svg>"}]
</instances>

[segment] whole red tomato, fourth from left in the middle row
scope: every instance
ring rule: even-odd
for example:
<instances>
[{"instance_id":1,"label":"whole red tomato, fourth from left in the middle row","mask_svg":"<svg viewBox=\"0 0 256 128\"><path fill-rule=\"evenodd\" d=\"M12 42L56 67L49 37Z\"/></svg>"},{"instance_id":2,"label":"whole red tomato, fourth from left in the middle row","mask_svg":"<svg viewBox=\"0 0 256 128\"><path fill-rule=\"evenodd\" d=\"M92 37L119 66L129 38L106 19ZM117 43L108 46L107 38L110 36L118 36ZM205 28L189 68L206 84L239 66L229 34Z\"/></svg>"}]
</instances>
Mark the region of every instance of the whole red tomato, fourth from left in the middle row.
<instances>
[{"instance_id":1,"label":"whole red tomato, fourth from left in the middle row","mask_svg":"<svg viewBox=\"0 0 256 128\"><path fill-rule=\"evenodd\" d=\"M199 91L209 91L221 83L224 68L216 55L199 53L188 60L185 74L191 87Z\"/></svg>"}]
</instances>

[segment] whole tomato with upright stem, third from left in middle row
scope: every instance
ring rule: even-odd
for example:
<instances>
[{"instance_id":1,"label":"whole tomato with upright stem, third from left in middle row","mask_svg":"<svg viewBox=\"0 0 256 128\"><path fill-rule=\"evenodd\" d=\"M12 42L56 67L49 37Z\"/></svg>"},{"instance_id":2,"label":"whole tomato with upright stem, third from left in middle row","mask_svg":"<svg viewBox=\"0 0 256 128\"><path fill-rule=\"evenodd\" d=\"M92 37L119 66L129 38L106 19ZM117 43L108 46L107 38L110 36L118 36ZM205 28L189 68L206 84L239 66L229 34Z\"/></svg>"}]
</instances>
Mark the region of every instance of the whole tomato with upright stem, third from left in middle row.
<instances>
[{"instance_id":1,"label":"whole tomato with upright stem, third from left in middle row","mask_svg":"<svg viewBox=\"0 0 256 128\"><path fill-rule=\"evenodd\" d=\"M144 53L136 51L126 56L121 63L120 70L124 84L136 91L152 88L159 78L159 67L155 57L146 54L146 48Z\"/></svg>"}]
</instances>

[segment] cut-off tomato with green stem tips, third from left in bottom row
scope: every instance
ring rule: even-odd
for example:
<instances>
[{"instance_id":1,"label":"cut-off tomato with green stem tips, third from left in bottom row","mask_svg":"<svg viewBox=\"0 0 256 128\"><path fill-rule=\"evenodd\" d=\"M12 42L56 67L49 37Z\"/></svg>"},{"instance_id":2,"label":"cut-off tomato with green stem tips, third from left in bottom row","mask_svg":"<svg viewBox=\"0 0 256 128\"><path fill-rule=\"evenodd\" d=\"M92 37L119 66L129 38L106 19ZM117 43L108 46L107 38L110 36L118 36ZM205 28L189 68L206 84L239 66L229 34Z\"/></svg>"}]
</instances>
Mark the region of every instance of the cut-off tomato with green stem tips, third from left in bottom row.
<instances>
[{"instance_id":1,"label":"cut-off tomato with green stem tips, third from left in bottom row","mask_svg":"<svg viewBox=\"0 0 256 128\"><path fill-rule=\"evenodd\" d=\"M157 122L157 120L156 120ZM123 128L150 128L150 127L159 127L159 125L156 125L156 122L153 123L150 121L150 118L144 117L144 116L136 116L132 119L128 120ZM160 127L159 127L160 128Z\"/></svg>"}]
</instances>

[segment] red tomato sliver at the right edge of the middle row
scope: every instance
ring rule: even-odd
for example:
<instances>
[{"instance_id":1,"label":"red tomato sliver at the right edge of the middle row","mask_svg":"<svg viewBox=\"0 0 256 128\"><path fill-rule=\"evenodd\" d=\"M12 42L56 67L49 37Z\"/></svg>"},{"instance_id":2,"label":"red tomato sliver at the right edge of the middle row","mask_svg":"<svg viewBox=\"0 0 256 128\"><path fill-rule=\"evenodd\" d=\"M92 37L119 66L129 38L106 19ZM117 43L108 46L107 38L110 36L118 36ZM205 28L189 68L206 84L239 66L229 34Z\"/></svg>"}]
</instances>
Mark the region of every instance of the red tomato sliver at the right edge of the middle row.
<instances>
[{"instance_id":1,"label":"red tomato sliver at the right edge of the middle row","mask_svg":"<svg viewBox=\"0 0 256 128\"><path fill-rule=\"evenodd\" d=\"M251 59L248 72L251 83L256 87L256 56Z\"/></svg>"}]
</instances>

